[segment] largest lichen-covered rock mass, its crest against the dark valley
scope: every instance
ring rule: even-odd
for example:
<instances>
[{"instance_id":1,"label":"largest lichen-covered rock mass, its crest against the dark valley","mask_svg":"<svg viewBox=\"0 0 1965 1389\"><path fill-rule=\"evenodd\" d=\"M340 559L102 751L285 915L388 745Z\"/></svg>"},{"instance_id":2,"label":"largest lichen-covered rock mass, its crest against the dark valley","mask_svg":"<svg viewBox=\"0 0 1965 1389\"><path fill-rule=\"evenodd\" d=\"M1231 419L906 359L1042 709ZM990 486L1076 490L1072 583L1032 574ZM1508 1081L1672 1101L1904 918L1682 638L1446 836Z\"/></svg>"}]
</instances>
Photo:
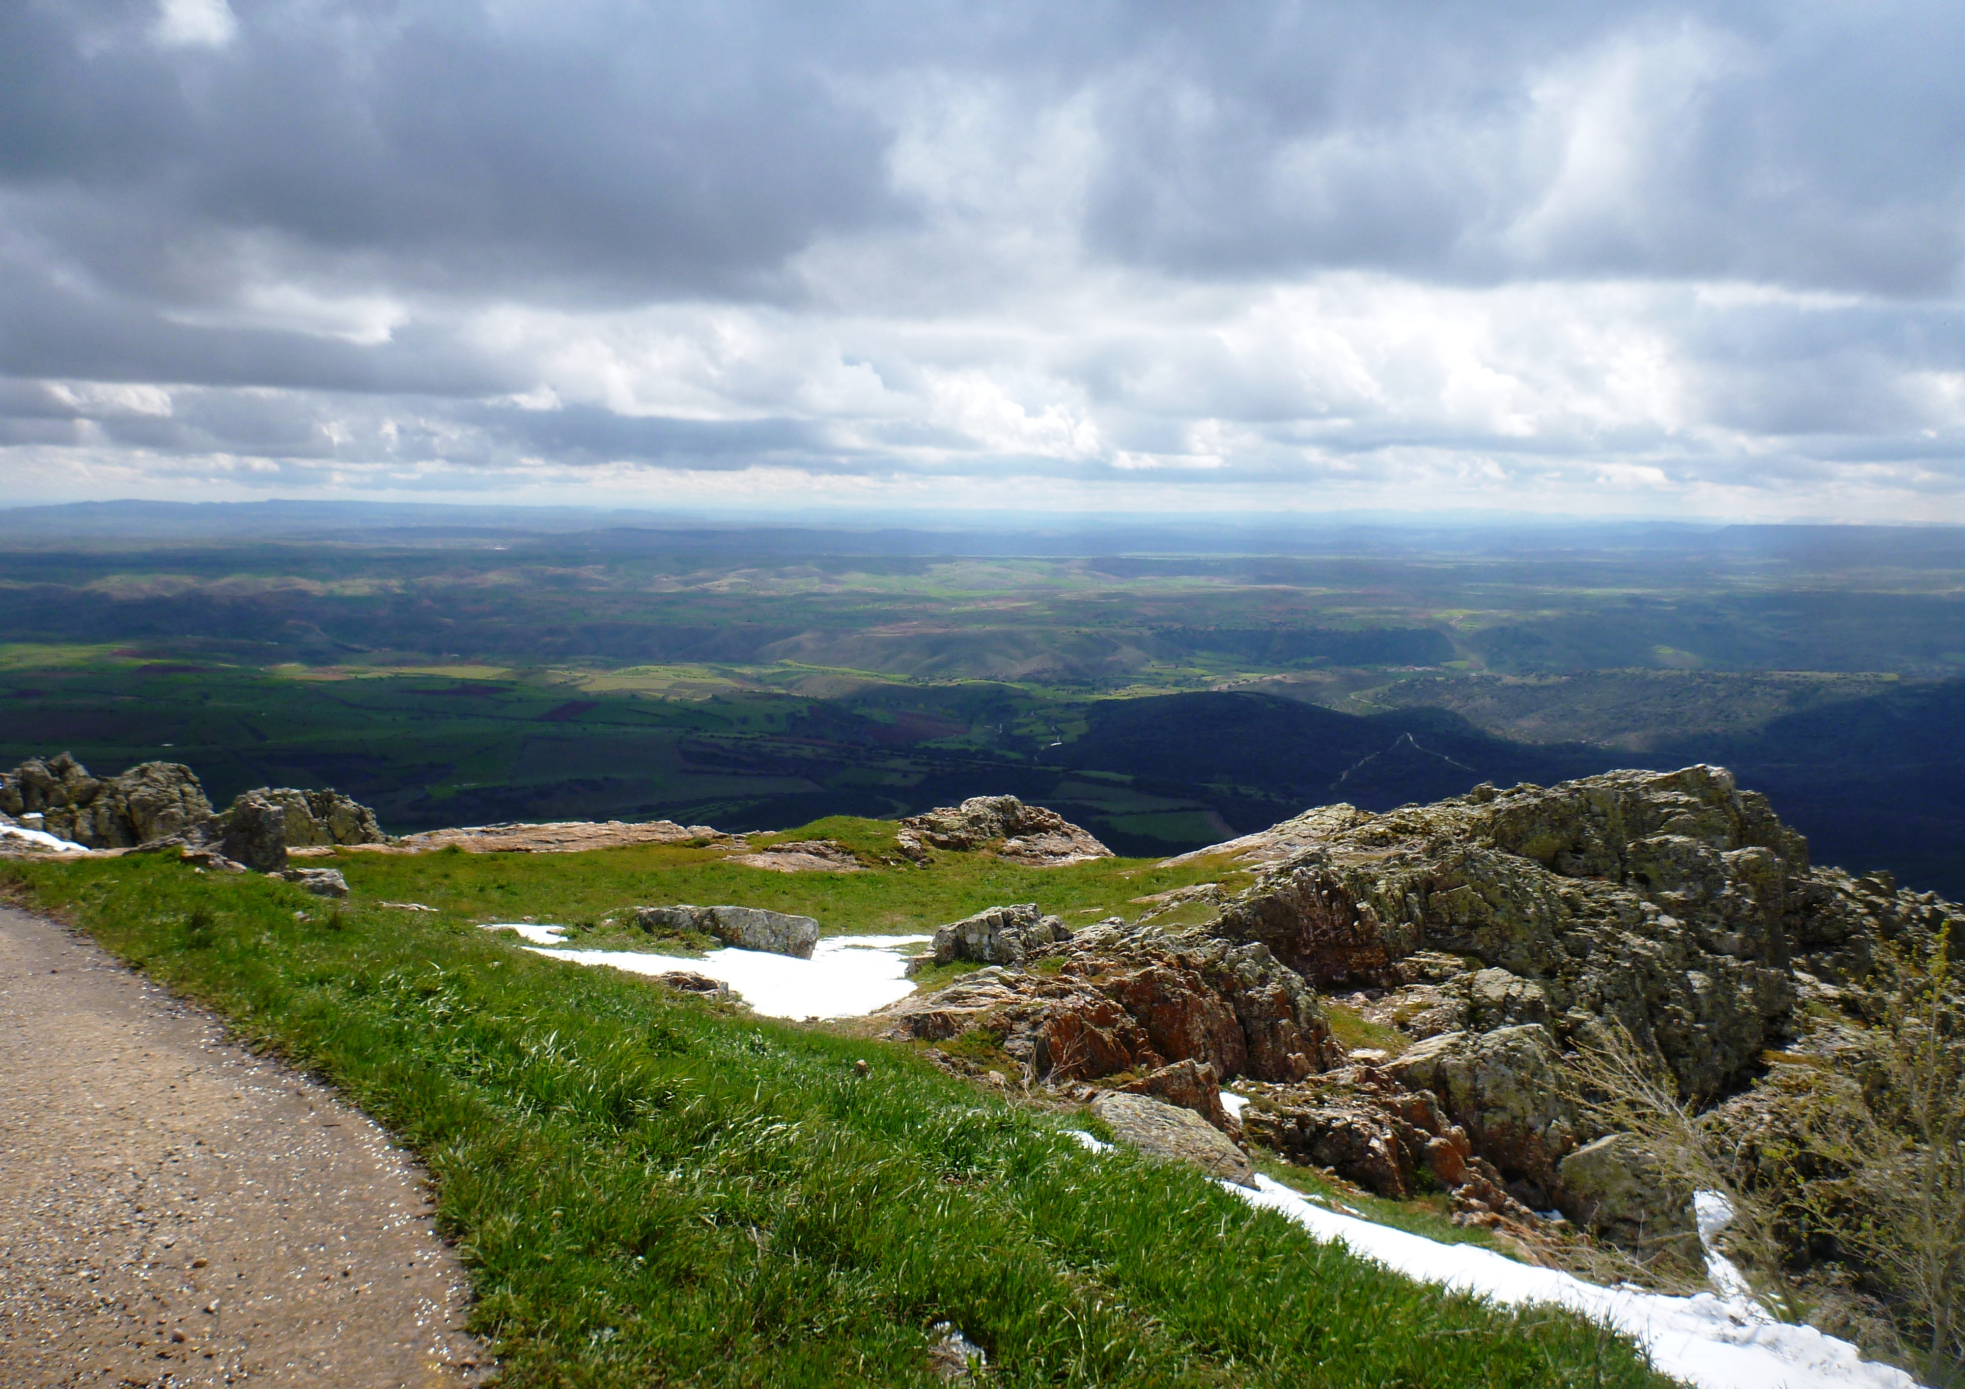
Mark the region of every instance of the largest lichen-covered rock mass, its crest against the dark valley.
<instances>
[{"instance_id":1,"label":"largest lichen-covered rock mass, its crest against the dark valley","mask_svg":"<svg viewBox=\"0 0 1965 1389\"><path fill-rule=\"evenodd\" d=\"M1804 953L1847 965L1839 878L1719 768L1609 772L1354 819L1218 929L1319 984L1407 990L1381 1004L1423 1031L1544 1024L1568 1047L1615 1020L1706 1098L1782 1033Z\"/></svg>"}]
</instances>

